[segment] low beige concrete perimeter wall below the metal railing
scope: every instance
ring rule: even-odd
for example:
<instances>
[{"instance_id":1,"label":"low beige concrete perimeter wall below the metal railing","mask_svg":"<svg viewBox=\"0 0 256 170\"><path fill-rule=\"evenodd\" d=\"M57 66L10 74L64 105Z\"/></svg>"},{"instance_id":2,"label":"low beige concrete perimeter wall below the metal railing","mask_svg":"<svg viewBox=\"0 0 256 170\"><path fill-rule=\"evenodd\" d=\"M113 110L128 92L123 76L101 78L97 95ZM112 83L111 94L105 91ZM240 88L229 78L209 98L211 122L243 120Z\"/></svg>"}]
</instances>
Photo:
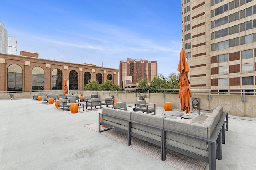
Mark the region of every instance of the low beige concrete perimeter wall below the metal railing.
<instances>
[{"instance_id":1,"label":"low beige concrete perimeter wall below the metal railing","mask_svg":"<svg viewBox=\"0 0 256 170\"><path fill-rule=\"evenodd\" d=\"M32 92L21 92L21 93L10 93L13 95L13 99L20 99L20 98L33 98ZM0 93L0 100L10 100L10 94L8 93ZM46 93L45 93L46 94ZM49 94L55 94L52 92ZM58 93L56 93L58 94ZM74 95L81 96L80 92L74 92ZM84 92L82 93L83 96L90 96L91 92ZM135 93L98 93L101 100L104 100L106 97L111 97L114 95L115 99L118 102L126 102L127 104L134 105L137 100L140 100L138 95L136 96ZM145 95L144 93L141 95ZM180 109L180 99L178 98L178 94L166 94L166 98L164 98L164 94L154 94L154 93L146 93L147 97L145 98L147 103L155 103L156 107L164 107L165 102L172 102L173 109ZM224 111L228 111L228 115L233 116L242 116L242 117L252 117L256 118L256 111L254 110L256 96L255 95L246 95L247 102L242 102L241 98L242 95L219 95L214 94L211 95L212 100L208 100L208 95L204 94L193 94L192 98L200 98L200 108L201 109L208 109L212 110L215 109L217 106L222 106ZM0 102L1 103L1 102ZM191 111L192 109L192 104ZM199 108L198 108L199 109ZM196 111L195 111L196 112Z\"/></svg>"}]
</instances>

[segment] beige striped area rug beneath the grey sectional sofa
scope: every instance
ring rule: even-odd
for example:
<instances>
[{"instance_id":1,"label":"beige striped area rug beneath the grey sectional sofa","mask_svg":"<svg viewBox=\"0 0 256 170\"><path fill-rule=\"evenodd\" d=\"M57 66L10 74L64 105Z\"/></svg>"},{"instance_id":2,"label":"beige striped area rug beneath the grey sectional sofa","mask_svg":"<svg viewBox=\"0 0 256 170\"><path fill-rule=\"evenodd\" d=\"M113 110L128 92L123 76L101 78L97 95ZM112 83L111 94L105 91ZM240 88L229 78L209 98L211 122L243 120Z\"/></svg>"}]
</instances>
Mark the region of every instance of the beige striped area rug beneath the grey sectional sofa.
<instances>
[{"instance_id":1,"label":"beige striped area rug beneath the grey sectional sofa","mask_svg":"<svg viewBox=\"0 0 256 170\"><path fill-rule=\"evenodd\" d=\"M85 126L98 132L98 123L88 124ZM102 129L106 128L102 127ZM114 139L115 141L118 141L124 145L127 145L127 134L125 133L110 129L108 131L101 132L101 134L111 139ZM143 141L136 137L132 137L131 140L132 144L129 147L136 149L148 156L151 156L152 158L162 161L160 146ZM166 160L162 162L180 170L204 170L207 164L200 160L196 160L194 158L180 154L178 152L174 152L169 149L166 150Z\"/></svg>"}]
</instances>

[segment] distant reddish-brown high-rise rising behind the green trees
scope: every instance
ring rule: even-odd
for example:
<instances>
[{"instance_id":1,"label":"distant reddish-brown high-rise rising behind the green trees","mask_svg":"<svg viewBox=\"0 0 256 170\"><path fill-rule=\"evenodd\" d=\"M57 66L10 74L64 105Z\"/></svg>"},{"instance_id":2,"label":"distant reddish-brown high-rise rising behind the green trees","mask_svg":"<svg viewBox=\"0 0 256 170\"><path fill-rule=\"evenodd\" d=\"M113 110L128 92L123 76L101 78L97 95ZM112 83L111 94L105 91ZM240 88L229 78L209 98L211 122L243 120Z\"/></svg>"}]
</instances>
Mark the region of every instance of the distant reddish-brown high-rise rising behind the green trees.
<instances>
[{"instance_id":1,"label":"distant reddish-brown high-rise rising behind the green trees","mask_svg":"<svg viewBox=\"0 0 256 170\"><path fill-rule=\"evenodd\" d=\"M124 88L124 77L132 77L132 82L138 82L140 78L147 78L150 82L154 76L157 76L157 61L128 58L127 60L120 60L119 70L119 85L122 88Z\"/></svg>"}]
</instances>

